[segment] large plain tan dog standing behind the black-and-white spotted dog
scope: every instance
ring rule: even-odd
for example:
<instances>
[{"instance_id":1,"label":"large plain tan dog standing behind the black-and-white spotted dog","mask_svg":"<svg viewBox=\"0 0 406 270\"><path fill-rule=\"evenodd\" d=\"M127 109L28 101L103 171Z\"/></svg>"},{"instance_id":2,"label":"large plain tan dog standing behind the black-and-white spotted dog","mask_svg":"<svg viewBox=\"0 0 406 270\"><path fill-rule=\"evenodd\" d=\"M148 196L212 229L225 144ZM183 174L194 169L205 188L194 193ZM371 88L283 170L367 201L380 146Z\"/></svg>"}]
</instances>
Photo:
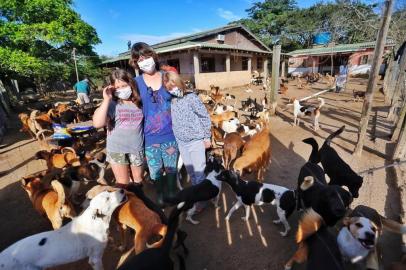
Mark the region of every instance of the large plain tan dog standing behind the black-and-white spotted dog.
<instances>
[{"instance_id":1,"label":"large plain tan dog standing behind the black-and-white spotted dog","mask_svg":"<svg viewBox=\"0 0 406 270\"><path fill-rule=\"evenodd\" d=\"M244 170L257 171L257 179L264 180L264 173L271 156L271 138L266 125L245 144L242 155L233 165L234 171L242 176Z\"/></svg>"}]
</instances>

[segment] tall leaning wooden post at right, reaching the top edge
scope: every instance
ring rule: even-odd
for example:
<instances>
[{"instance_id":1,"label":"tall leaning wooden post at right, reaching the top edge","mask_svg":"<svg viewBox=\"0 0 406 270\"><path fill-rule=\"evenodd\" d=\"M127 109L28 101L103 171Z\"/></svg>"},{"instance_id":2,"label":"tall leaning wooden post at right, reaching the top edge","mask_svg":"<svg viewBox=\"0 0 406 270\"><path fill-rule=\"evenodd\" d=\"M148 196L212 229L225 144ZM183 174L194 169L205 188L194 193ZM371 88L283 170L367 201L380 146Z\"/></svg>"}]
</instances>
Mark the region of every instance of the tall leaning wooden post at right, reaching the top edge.
<instances>
[{"instance_id":1,"label":"tall leaning wooden post at right, reaching the top edge","mask_svg":"<svg viewBox=\"0 0 406 270\"><path fill-rule=\"evenodd\" d=\"M393 0L385 1L385 10L381 20L381 27L375 44L374 58L369 73L368 86L365 92L365 100L362 106L361 121L358 128L358 142L355 146L354 155L361 156L364 147L364 140L368 128L369 114L372 109L372 101L374 97L374 88L378 81L379 67L382 63L383 50L386 44L386 36L388 34L389 23L392 16Z\"/></svg>"}]
</instances>

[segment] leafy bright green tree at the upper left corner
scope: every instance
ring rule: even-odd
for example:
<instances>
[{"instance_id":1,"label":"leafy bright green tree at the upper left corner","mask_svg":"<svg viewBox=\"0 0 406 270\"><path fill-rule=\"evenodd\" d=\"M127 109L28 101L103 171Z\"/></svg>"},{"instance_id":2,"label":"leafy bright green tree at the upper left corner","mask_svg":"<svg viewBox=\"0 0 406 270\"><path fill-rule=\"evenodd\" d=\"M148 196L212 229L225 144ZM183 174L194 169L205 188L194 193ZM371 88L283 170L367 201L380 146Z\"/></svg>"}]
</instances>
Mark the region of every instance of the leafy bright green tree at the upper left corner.
<instances>
[{"instance_id":1,"label":"leafy bright green tree at the upper left corner","mask_svg":"<svg viewBox=\"0 0 406 270\"><path fill-rule=\"evenodd\" d=\"M0 1L0 76L32 77L45 90L47 82L71 77L73 48L97 59L92 46L98 43L71 0Z\"/></svg>"}]
</instances>

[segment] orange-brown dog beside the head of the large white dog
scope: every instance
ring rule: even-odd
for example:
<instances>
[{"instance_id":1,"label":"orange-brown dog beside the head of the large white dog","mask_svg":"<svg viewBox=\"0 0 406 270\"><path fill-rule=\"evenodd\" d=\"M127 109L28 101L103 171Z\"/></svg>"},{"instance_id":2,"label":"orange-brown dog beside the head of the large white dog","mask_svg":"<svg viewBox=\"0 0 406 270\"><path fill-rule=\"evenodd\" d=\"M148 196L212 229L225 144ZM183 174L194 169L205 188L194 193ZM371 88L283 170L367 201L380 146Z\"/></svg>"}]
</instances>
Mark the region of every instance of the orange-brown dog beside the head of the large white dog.
<instances>
[{"instance_id":1,"label":"orange-brown dog beside the head of the large white dog","mask_svg":"<svg viewBox=\"0 0 406 270\"><path fill-rule=\"evenodd\" d=\"M114 190L109 186L95 186L86 194L87 199L91 199L98 193L104 190ZM135 233L134 247L135 254L138 254L148 248L160 247L163 238L166 234L167 226L161 223L161 219L157 213L149 209L144 202L132 192L126 192L128 200L123 205L118 207L113 214L113 218L117 221L121 235L120 250L124 250L127 246L127 237L125 230L127 227L133 229ZM148 240L160 235L162 239L152 245L148 245Z\"/></svg>"}]
</instances>

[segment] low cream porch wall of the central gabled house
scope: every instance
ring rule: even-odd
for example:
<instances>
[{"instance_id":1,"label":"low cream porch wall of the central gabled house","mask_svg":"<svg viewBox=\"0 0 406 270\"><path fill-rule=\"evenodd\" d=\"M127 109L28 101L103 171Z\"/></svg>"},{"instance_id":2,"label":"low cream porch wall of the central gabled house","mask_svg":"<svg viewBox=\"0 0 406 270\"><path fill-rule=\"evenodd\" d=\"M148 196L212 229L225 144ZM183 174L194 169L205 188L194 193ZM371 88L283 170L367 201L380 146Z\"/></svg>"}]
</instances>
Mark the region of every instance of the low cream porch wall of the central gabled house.
<instances>
[{"instance_id":1,"label":"low cream porch wall of the central gabled house","mask_svg":"<svg viewBox=\"0 0 406 270\"><path fill-rule=\"evenodd\" d=\"M251 71L211 72L195 75L197 89L209 90L214 84L220 88L247 85L251 80Z\"/></svg>"}]
</instances>

